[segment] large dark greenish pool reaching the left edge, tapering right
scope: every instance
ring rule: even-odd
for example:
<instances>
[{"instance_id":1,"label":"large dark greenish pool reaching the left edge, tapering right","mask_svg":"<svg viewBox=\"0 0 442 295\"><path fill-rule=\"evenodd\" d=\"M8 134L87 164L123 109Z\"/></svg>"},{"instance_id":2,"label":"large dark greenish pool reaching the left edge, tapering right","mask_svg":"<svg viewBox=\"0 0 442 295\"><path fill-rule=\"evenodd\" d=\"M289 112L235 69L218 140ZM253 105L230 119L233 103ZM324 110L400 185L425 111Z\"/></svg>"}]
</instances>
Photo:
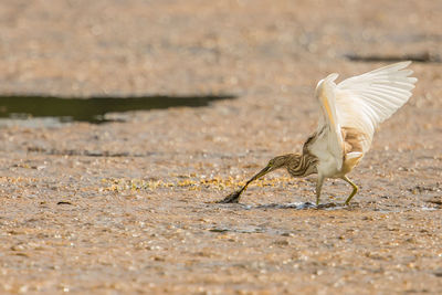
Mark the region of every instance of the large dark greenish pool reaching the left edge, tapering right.
<instances>
[{"instance_id":1,"label":"large dark greenish pool reaching the left edge, tapering right","mask_svg":"<svg viewBox=\"0 0 442 295\"><path fill-rule=\"evenodd\" d=\"M108 113L161 109L177 106L201 107L234 95L196 96L94 96L56 97L42 95L0 96L0 117L27 119L30 117L55 117L61 122L88 122L94 124L116 122L107 119Z\"/></svg>"}]
</instances>

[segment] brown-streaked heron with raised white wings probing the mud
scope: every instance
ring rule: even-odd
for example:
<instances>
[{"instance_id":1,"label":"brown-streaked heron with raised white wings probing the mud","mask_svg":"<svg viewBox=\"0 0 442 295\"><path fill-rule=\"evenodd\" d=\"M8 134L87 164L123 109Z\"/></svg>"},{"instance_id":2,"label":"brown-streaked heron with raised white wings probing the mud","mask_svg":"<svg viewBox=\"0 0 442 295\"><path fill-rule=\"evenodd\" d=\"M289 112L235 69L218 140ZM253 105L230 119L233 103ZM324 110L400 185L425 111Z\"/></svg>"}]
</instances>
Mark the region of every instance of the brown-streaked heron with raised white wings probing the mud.
<instances>
[{"instance_id":1,"label":"brown-streaked heron with raised white wings probing the mud","mask_svg":"<svg viewBox=\"0 0 442 295\"><path fill-rule=\"evenodd\" d=\"M315 89L320 116L316 131L304 143L302 154L277 156L220 203L238 203L249 185L281 168L292 177L317 175L316 207L326 179L343 179L352 187L345 206L358 192L348 173L370 149L376 128L411 97L418 81L407 69L410 61L399 62L352 76L336 84L337 73L320 80Z\"/></svg>"}]
</instances>

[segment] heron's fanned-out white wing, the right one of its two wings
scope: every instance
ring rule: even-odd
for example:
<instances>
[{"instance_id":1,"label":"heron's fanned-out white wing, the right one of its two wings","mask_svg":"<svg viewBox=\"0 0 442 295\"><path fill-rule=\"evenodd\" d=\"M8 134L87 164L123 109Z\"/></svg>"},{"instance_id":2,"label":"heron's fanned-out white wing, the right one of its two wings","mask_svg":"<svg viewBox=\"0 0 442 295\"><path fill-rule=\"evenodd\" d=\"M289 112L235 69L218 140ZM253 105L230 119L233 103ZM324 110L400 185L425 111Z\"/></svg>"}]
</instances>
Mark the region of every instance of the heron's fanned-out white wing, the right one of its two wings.
<instances>
[{"instance_id":1,"label":"heron's fanned-out white wing, the right one of its two wings","mask_svg":"<svg viewBox=\"0 0 442 295\"><path fill-rule=\"evenodd\" d=\"M411 62L391 64L340 82L335 88L336 113L341 127L364 134L362 151L370 148L376 127L411 96L415 77L406 70Z\"/></svg>"}]
</instances>

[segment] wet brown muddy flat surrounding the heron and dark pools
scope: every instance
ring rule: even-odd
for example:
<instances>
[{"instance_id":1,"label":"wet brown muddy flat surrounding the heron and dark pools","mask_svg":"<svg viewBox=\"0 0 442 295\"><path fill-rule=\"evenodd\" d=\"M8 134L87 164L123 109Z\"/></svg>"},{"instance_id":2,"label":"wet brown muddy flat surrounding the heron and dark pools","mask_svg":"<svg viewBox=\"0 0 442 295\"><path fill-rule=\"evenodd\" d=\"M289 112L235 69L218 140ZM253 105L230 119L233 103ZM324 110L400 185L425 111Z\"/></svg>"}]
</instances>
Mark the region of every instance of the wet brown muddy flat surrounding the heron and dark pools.
<instances>
[{"instance_id":1,"label":"wet brown muddy flat surrounding the heron and dark pools","mask_svg":"<svg viewBox=\"0 0 442 295\"><path fill-rule=\"evenodd\" d=\"M4 1L0 92L234 95L107 124L2 120L1 293L439 294L438 1ZM411 65L410 102L350 178L284 171L218 204L314 131L314 88ZM422 56L423 56L422 55ZM425 55L425 56L427 56Z\"/></svg>"}]
</instances>

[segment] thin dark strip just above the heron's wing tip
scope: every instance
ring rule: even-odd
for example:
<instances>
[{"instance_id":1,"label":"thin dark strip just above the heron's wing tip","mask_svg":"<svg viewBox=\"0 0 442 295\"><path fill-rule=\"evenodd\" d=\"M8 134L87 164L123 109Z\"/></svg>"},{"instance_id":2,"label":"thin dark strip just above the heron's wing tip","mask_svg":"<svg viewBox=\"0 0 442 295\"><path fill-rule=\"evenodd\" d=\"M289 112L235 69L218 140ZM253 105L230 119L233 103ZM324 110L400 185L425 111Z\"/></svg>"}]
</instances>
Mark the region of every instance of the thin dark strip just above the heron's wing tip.
<instances>
[{"instance_id":1,"label":"thin dark strip just above the heron's wing tip","mask_svg":"<svg viewBox=\"0 0 442 295\"><path fill-rule=\"evenodd\" d=\"M396 62L404 62L412 61L418 63L441 63L442 59L439 55L433 55L428 52L415 53L415 54L404 54L404 55L381 55L381 54L371 54L371 55L359 55L348 53L344 55L347 60L352 62L368 62L368 63L396 63Z\"/></svg>"}]
</instances>

